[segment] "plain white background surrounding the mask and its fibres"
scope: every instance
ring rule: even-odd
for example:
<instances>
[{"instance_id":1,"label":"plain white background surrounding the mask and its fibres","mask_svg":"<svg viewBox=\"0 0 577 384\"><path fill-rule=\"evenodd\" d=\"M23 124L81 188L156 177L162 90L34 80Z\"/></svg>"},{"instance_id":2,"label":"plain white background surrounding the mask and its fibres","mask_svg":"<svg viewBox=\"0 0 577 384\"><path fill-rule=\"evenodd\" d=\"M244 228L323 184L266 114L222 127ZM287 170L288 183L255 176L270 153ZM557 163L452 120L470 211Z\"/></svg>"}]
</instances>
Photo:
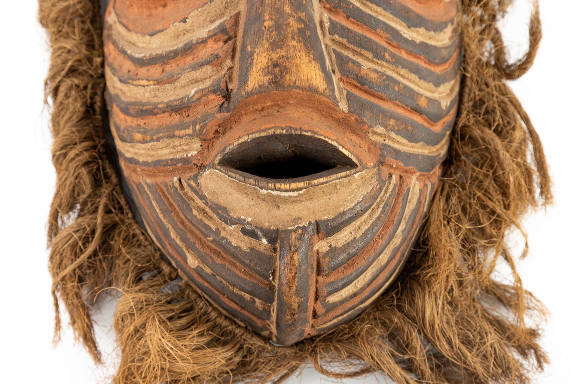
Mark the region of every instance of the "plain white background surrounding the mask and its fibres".
<instances>
[{"instance_id":1,"label":"plain white background surrounding the mask and its fibres","mask_svg":"<svg viewBox=\"0 0 577 384\"><path fill-rule=\"evenodd\" d=\"M526 48L529 0L518 0L504 21L511 56ZM102 309L98 337L108 367L95 367L69 328L53 347L54 310L47 271L46 218L54 190L43 79L46 37L34 0L2 2L0 13L0 381L3 383L108 382L114 366L114 306ZM552 361L536 383L576 383L577 353L577 124L573 1L541 1L544 39L533 69L511 84L545 147L555 183L555 204L526 217L529 257L519 265L526 288L550 310L543 343ZM515 241L515 239L514 239ZM518 239L516 240L518 241ZM66 324L66 319L65 319ZM312 369L294 383L325 383ZM371 377L349 383L385 382Z\"/></svg>"}]
</instances>

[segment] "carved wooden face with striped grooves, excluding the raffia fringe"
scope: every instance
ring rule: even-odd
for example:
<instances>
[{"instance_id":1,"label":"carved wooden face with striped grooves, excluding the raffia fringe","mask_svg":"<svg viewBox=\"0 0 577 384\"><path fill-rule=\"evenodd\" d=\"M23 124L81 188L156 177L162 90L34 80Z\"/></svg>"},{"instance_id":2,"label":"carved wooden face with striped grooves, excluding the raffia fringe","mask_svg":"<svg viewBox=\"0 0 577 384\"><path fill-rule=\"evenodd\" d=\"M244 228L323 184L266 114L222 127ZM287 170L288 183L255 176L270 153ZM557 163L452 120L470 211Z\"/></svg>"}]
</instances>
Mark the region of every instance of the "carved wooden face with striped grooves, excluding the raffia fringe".
<instances>
[{"instance_id":1,"label":"carved wooden face with striped grooves, excluding the raffia fringe","mask_svg":"<svg viewBox=\"0 0 577 384\"><path fill-rule=\"evenodd\" d=\"M454 0L116 0L107 105L149 236L288 345L398 274L458 107Z\"/></svg>"}]
</instances>

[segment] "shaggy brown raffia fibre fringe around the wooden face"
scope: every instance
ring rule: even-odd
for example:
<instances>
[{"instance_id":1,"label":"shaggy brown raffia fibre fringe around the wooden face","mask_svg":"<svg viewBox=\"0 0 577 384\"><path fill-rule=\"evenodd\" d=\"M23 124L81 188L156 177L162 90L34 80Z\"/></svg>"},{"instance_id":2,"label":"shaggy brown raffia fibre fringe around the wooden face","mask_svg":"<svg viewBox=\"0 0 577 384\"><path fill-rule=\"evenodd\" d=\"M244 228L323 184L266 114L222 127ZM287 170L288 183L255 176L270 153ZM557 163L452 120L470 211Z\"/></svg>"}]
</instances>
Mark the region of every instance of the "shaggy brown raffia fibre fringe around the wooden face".
<instances>
[{"instance_id":1,"label":"shaggy brown raffia fibre fringe around the wooden face","mask_svg":"<svg viewBox=\"0 0 577 384\"><path fill-rule=\"evenodd\" d=\"M122 292L114 321L118 384L282 382L306 363L335 378L380 371L397 383L529 383L547 362L533 328L545 310L524 290L505 235L523 231L521 216L548 203L551 192L538 135L505 85L533 62L537 7L529 51L508 63L497 22L510 3L461 2L458 119L402 274L349 324L276 347L179 279L134 219L103 132L99 2L40 0L52 49L46 93L57 173L48 222L55 339L63 305L76 338L99 363L89 308L113 288ZM511 281L496 279L499 260L511 268Z\"/></svg>"}]
</instances>

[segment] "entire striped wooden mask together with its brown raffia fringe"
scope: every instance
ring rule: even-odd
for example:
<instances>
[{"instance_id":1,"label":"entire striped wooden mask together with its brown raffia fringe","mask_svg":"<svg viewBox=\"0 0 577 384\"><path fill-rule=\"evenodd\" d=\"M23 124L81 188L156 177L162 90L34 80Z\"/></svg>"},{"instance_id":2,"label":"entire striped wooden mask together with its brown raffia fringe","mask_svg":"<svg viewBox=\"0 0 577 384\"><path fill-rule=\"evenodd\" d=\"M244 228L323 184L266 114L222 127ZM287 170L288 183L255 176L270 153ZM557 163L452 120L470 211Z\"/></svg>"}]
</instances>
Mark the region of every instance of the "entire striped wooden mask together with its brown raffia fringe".
<instances>
[{"instance_id":1,"label":"entire striped wooden mask together with its brown raffia fringe","mask_svg":"<svg viewBox=\"0 0 577 384\"><path fill-rule=\"evenodd\" d=\"M280 383L310 363L527 384L544 366L507 244L551 198L507 85L537 9L510 63L508 1L39 5L56 329L63 305L100 362L93 311L118 292L114 383Z\"/></svg>"}]
</instances>

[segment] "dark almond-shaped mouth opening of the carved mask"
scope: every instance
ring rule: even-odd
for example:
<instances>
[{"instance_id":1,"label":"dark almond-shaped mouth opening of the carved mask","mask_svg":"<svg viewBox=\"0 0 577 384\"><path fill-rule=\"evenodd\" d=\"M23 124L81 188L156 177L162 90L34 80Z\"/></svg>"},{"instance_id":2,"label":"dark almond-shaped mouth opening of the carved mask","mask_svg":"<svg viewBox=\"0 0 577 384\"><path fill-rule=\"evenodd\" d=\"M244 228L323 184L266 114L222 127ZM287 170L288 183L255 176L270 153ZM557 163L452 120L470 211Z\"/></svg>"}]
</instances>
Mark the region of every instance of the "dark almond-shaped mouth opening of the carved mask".
<instances>
[{"instance_id":1,"label":"dark almond-shaped mouth opening of the carved mask","mask_svg":"<svg viewBox=\"0 0 577 384\"><path fill-rule=\"evenodd\" d=\"M228 150L218 165L243 177L292 181L310 181L357 168L357 163L335 145L304 134L247 139Z\"/></svg>"}]
</instances>

